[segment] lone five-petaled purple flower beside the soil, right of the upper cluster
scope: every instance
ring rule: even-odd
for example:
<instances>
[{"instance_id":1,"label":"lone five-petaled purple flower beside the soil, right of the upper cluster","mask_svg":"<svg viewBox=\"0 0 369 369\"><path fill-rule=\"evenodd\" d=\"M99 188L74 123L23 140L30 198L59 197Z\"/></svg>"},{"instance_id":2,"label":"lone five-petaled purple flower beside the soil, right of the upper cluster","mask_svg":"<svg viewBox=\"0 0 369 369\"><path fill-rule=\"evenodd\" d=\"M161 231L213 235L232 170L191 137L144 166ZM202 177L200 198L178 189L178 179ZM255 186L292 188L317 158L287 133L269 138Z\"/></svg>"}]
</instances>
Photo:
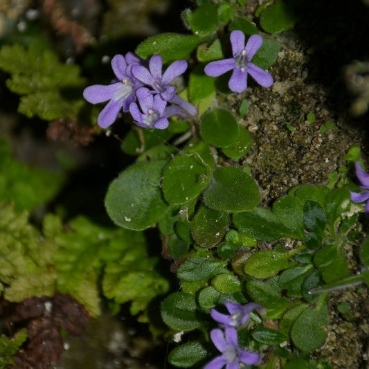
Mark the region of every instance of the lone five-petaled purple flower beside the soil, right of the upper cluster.
<instances>
[{"instance_id":1,"label":"lone five-petaled purple flower beside the soil, right of the upper cluster","mask_svg":"<svg viewBox=\"0 0 369 369\"><path fill-rule=\"evenodd\" d=\"M260 86L271 87L273 77L268 72L251 63L256 51L262 46L262 37L260 35L252 35L246 46L244 42L244 33L240 30L233 30L231 33L233 57L210 62L205 67L205 73L211 77L218 77L233 69L231 79L228 82L228 87L233 92L243 92L246 89L248 73Z\"/></svg>"}]
</instances>

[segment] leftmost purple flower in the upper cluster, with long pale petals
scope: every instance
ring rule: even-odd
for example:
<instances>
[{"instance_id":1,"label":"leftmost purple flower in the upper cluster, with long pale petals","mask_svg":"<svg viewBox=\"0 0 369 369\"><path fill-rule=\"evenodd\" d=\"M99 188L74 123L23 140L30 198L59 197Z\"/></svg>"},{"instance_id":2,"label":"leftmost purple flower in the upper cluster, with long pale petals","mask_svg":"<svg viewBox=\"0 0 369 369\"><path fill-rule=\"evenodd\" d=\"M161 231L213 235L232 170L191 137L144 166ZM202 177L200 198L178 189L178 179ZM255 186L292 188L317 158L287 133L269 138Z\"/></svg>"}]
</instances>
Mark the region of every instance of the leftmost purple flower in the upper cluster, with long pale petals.
<instances>
[{"instance_id":1,"label":"leftmost purple flower in the upper cluster, with long pale petals","mask_svg":"<svg viewBox=\"0 0 369 369\"><path fill-rule=\"evenodd\" d=\"M111 68L116 75L114 83L107 86L94 84L83 91L84 98L92 104L110 100L98 116L98 125L107 128L113 124L118 116L120 109L128 111L129 105L136 100L134 91L142 86L141 82L136 80L131 73L132 65L138 63L138 57L132 53L115 55L111 60Z\"/></svg>"}]
</instances>

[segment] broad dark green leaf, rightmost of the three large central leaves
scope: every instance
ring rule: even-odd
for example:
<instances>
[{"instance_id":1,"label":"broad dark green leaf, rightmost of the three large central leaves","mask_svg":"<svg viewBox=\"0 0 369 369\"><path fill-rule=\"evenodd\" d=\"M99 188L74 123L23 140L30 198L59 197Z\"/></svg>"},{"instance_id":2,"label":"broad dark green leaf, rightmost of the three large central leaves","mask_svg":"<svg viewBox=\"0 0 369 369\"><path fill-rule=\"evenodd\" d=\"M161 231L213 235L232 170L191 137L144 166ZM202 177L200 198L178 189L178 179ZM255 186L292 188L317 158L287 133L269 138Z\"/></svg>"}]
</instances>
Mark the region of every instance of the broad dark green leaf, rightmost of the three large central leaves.
<instances>
[{"instance_id":1,"label":"broad dark green leaf, rightmost of the three large central leaves","mask_svg":"<svg viewBox=\"0 0 369 369\"><path fill-rule=\"evenodd\" d=\"M204 192L204 202L215 210L251 210L260 202L259 188L241 168L217 168Z\"/></svg>"}]
</instances>

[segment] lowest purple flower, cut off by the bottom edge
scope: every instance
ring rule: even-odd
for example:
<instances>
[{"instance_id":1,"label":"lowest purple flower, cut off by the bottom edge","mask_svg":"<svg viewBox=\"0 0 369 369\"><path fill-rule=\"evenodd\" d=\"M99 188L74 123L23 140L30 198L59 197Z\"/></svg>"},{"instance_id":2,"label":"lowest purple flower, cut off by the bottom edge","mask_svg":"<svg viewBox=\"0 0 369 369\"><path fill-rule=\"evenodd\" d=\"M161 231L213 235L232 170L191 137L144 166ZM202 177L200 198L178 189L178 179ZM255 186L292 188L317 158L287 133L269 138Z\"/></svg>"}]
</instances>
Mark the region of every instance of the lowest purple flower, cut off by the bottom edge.
<instances>
[{"instance_id":1,"label":"lowest purple flower, cut off by the bottom edge","mask_svg":"<svg viewBox=\"0 0 369 369\"><path fill-rule=\"evenodd\" d=\"M204 366L204 369L238 369L240 363L254 365L260 360L259 354L241 350L237 342L237 331L235 328L226 328L226 339L222 330L215 329L210 332L210 338L215 347L222 352L221 356L215 357Z\"/></svg>"}]
</instances>

